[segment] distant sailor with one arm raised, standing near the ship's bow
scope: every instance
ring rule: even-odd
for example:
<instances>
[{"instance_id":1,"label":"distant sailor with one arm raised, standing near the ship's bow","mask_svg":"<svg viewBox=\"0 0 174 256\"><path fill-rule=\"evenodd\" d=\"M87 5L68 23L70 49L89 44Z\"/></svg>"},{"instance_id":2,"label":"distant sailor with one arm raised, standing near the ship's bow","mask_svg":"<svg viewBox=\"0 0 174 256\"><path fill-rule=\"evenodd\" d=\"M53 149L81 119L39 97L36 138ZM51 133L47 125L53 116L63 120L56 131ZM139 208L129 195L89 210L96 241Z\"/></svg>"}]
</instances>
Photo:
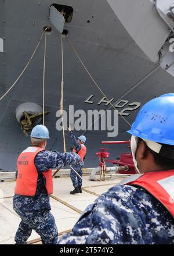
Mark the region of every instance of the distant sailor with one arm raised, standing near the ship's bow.
<instances>
[{"instance_id":1,"label":"distant sailor with one arm raised, standing near the ship's bow","mask_svg":"<svg viewBox=\"0 0 174 256\"><path fill-rule=\"evenodd\" d=\"M75 138L75 135L73 133L73 131L71 130L71 126L68 127L68 130L70 131L70 137L71 140L73 141L73 148L72 150L74 152L77 152L77 154L81 157L81 161L79 161L78 163L75 163L74 165L71 165L73 168L71 168L70 170L70 177L71 177L71 181L73 183L73 187L74 190L70 192L70 194L78 194L78 193L82 193L82 172L83 172L83 166L84 166L84 159L85 159L85 155L86 155L86 147L84 145L85 141L86 141L86 137L85 136L79 136L78 140ZM74 172L74 170L78 173Z\"/></svg>"}]
</instances>

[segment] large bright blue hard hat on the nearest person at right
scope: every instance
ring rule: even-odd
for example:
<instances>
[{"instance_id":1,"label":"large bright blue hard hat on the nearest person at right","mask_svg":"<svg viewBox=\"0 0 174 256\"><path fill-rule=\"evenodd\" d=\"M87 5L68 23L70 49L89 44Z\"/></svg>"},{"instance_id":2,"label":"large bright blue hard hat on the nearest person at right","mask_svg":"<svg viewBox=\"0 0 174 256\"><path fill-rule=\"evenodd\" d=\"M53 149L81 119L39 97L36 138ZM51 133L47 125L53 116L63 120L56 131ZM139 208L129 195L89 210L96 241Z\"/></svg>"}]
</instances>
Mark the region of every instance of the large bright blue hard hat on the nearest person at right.
<instances>
[{"instance_id":1,"label":"large bright blue hard hat on the nearest person at right","mask_svg":"<svg viewBox=\"0 0 174 256\"><path fill-rule=\"evenodd\" d=\"M174 94L164 94L148 101L140 109L128 133L157 143L174 145Z\"/></svg>"}]
</instances>

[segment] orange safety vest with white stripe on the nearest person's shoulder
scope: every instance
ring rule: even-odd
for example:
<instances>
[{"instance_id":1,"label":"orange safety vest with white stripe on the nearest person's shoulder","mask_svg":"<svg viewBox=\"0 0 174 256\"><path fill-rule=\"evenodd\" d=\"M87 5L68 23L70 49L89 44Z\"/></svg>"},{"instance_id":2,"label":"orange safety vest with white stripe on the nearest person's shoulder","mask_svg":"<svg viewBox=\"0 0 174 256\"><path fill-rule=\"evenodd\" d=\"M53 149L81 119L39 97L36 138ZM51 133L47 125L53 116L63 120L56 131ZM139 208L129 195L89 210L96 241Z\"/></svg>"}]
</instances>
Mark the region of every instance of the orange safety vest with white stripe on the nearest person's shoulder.
<instances>
[{"instance_id":1,"label":"orange safety vest with white stripe on the nearest person's shoulder","mask_svg":"<svg viewBox=\"0 0 174 256\"><path fill-rule=\"evenodd\" d=\"M136 174L119 184L142 187L147 190L174 218L174 170Z\"/></svg>"}]
</instances>

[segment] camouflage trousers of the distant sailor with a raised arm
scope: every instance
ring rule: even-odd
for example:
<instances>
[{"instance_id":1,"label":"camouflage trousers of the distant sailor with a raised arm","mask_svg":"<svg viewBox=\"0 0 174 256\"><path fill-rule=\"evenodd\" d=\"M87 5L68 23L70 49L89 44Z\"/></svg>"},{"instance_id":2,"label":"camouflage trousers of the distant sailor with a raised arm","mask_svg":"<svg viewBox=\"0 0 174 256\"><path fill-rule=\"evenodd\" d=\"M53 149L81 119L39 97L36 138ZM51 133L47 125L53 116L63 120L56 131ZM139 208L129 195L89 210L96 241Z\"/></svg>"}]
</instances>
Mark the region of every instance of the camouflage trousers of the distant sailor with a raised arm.
<instances>
[{"instance_id":1,"label":"camouflage trousers of the distant sailor with a raised arm","mask_svg":"<svg viewBox=\"0 0 174 256\"><path fill-rule=\"evenodd\" d=\"M74 170L76 170L76 172L79 174L79 176L82 177L82 168L84 166L84 162L80 161L74 165L72 165L72 167L74 168ZM81 187L82 186L82 179L74 172L74 170L71 168L70 171L70 178L73 182L73 187Z\"/></svg>"}]
</instances>

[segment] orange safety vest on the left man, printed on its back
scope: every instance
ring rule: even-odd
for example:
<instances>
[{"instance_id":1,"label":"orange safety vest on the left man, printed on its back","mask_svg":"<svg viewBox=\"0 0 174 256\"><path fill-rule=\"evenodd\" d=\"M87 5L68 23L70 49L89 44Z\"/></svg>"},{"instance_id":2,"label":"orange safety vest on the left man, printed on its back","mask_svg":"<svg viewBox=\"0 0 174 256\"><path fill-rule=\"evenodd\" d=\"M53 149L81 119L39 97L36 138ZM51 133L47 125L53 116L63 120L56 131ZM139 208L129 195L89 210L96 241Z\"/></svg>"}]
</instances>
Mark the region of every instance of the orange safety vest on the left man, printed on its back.
<instances>
[{"instance_id":1,"label":"orange safety vest on the left man, printed on its back","mask_svg":"<svg viewBox=\"0 0 174 256\"><path fill-rule=\"evenodd\" d=\"M15 194L34 196L37 191L38 171L34 163L36 155L44 151L40 147L28 147L21 152L17 159L17 179ZM53 193L52 169L43 172L46 179L46 191L48 195Z\"/></svg>"}]
</instances>

